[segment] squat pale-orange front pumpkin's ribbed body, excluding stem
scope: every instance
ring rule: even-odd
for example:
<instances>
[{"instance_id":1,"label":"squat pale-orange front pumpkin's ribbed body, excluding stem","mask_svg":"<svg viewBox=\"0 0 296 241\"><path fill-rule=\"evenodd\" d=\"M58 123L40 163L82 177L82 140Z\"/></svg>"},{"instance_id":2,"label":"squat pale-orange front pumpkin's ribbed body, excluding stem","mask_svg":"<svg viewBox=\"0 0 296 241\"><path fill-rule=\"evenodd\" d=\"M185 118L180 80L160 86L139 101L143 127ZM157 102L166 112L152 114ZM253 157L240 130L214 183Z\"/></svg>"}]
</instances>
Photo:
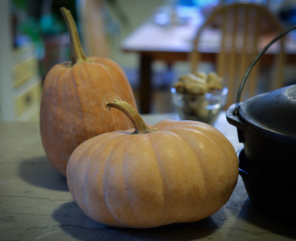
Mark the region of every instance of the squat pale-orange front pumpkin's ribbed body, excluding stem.
<instances>
[{"instance_id":1,"label":"squat pale-orange front pumpkin's ribbed body, excluding stem","mask_svg":"<svg viewBox=\"0 0 296 241\"><path fill-rule=\"evenodd\" d=\"M211 216L230 198L239 167L214 127L163 120L156 132L106 133L79 145L67 166L75 202L110 226L152 228Z\"/></svg>"}]
</instances>

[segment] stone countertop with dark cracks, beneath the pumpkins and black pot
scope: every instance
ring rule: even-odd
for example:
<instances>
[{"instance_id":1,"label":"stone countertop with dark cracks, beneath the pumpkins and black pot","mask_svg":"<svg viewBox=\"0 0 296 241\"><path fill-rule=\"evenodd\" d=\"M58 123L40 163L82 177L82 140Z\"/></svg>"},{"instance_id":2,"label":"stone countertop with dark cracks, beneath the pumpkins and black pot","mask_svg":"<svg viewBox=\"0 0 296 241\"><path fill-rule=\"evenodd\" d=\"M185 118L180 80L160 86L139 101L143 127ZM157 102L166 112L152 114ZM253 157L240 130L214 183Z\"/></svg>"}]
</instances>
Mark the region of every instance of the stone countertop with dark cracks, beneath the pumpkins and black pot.
<instances>
[{"instance_id":1,"label":"stone countertop with dark cracks, beneath the pumpkins and black pot","mask_svg":"<svg viewBox=\"0 0 296 241\"><path fill-rule=\"evenodd\" d=\"M143 115L147 124L176 114ZM238 150L236 128L222 112L214 125ZM49 164L38 122L0 122L0 240L295 240L296 225L261 213L241 177L217 213L188 224L115 228L89 219L73 201L65 177Z\"/></svg>"}]
</instances>

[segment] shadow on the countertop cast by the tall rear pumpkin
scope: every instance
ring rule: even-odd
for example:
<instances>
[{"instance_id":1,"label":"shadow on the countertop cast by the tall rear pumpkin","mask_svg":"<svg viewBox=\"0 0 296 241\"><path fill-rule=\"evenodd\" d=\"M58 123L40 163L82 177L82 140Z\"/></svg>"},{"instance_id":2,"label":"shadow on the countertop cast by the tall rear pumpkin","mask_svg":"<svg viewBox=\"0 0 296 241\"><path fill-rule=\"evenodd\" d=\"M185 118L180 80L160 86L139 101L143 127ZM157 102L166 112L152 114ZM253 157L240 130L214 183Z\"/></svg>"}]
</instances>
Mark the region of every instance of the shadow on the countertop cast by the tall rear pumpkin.
<instances>
[{"instance_id":1,"label":"shadow on the countertop cast by the tall rear pumpkin","mask_svg":"<svg viewBox=\"0 0 296 241\"><path fill-rule=\"evenodd\" d=\"M25 182L37 187L69 191L66 177L54 170L46 156L23 160L17 174Z\"/></svg>"}]
</instances>

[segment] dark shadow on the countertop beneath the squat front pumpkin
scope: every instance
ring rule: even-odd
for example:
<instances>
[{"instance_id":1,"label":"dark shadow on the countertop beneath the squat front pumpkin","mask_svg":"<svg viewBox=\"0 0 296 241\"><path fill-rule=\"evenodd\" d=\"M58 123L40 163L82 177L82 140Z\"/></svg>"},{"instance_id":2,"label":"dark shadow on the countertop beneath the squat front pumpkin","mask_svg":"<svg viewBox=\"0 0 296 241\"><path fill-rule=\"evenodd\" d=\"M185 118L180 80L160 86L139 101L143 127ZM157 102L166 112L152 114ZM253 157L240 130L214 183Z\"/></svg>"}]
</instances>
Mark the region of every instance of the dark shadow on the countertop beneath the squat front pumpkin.
<instances>
[{"instance_id":1,"label":"dark shadow on the countertop beneath the squat front pumpkin","mask_svg":"<svg viewBox=\"0 0 296 241\"><path fill-rule=\"evenodd\" d=\"M60 229L73 238L83 241L189 241L207 237L218 229L217 224L210 217L194 223L169 224L149 229L110 227L91 220L74 201L60 206L52 216L59 222Z\"/></svg>"}]
</instances>

